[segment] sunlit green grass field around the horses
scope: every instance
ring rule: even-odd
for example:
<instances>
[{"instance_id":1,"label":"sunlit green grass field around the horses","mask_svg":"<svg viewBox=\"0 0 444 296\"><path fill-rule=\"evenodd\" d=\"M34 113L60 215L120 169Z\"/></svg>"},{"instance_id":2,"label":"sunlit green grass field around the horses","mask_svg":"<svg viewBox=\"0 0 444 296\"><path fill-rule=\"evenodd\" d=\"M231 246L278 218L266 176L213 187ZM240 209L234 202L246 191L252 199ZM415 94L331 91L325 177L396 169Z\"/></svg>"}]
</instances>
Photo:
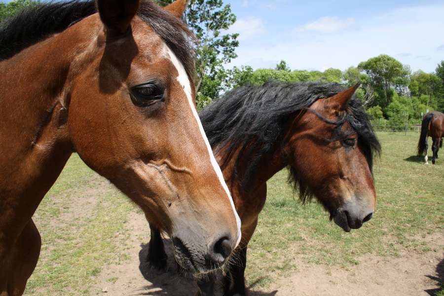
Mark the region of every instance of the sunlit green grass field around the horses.
<instances>
[{"instance_id":1,"label":"sunlit green grass field around the horses","mask_svg":"<svg viewBox=\"0 0 444 296\"><path fill-rule=\"evenodd\" d=\"M273 282L297 269L296 258L347 268L364 254L430 251L425 238L444 232L444 150L437 165L425 166L412 157L417 133L378 137L383 154L374 168L377 210L358 231L344 233L316 203L300 204L285 171L269 181L248 253L249 283ZM35 216L43 247L26 295L89 295L105 264L127 259L117 245L134 212L139 210L121 193L71 157Z\"/></svg>"}]
</instances>

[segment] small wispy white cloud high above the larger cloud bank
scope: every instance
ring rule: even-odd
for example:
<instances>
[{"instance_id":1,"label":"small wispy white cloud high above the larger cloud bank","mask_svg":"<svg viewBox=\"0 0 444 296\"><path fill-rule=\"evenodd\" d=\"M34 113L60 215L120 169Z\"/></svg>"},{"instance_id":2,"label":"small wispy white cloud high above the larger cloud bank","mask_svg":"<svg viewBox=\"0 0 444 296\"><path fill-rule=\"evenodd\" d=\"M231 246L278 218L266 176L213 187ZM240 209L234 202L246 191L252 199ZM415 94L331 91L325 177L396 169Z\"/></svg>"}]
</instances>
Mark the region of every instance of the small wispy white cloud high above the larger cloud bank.
<instances>
[{"instance_id":1,"label":"small wispy white cloud high above the larger cloud bank","mask_svg":"<svg viewBox=\"0 0 444 296\"><path fill-rule=\"evenodd\" d=\"M297 27L296 32L313 31L319 33L336 33L355 24L354 18L341 19L337 16L325 16L314 22Z\"/></svg>"}]
</instances>

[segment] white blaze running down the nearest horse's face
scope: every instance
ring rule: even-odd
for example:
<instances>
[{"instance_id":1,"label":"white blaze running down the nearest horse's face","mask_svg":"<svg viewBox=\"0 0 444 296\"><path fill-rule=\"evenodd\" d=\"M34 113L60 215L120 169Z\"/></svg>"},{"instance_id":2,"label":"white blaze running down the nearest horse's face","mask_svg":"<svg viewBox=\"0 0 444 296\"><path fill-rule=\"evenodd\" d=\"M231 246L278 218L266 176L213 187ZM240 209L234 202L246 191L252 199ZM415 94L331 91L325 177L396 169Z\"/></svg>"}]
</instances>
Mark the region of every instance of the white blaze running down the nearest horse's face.
<instances>
[{"instance_id":1,"label":"white blaze running down the nearest horse's face","mask_svg":"<svg viewBox=\"0 0 444 296\"><path fill-rule=\"evenodd\" d=\"M241 221L240 221L239 215L236 212L236 208L234 207L233 198L231 197L230 190L228 190L228 186L226 185L225 180L223 179L221 168L219 167L219 164L216 161L216 158L214 157L213 150L211 149L211 146L210 146L210 142L208 142L208 138L205 135L205 131L203 129L202 123L200 122L199 114L197 113L197 110L194 107L194 103L193 103L193 100L191 97L191 84L189 82L188 74L186 74L184 65L182 65L182 63L177 59L174 52L167 45L165 45L165 46L167 47L168 55L170 56L171 62L176 67L177 72L179 73L177 80L184 88L186 98L188 99L189 107L191 108L193 116L196 119L197 126L199 127L199 130L200 130L202 138L205 142L205 145L207 146L208 155L210 156L211 164L213 165L214 171L216 172L216 175L218 176L223 189L225 189L225 192L228 196L231 207L233 208L234 217L236 217L236 222L237 222L237 236L238 236L237 242L236 242L236 247L237 247L237 245L239 244L240 239L241 239L241 229L240 229Z\"/></svg>"}]
</instances>

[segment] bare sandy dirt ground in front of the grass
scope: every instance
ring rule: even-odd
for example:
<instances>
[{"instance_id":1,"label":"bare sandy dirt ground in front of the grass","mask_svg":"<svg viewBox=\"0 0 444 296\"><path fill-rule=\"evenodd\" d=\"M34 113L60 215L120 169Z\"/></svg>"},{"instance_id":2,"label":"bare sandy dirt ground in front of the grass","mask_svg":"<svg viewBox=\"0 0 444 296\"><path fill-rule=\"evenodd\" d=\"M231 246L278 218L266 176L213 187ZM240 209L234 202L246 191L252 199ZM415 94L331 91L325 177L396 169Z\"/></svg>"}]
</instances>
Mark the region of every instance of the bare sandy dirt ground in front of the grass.
<instances>
[{"instance_id":1,"label":"bare sandy dirt ground in front of the grass","mask_svg":"<svg viewBox=\"0 0 444 296\"><path fill-rule=\"evenodd\" d=\"M105 266L91 289L91 295L193 296L197 289L191 279L176 272L171 253L169 270L150 268L149 228L144 215L129 216L129 238L121 250L128 260ZM428 237L430 252L402 253L399 257L366 255L360 264L341 268L296 262L297 270L267 288L250 287L250 296L428 296L444 282L444 233ZM167 245L167 249L170 249ZM167 252L168 253L168 252ZM284 256L284 255L283 255ZM248 277L248 268L247 268Z\"/></svg>"}]
</instances>

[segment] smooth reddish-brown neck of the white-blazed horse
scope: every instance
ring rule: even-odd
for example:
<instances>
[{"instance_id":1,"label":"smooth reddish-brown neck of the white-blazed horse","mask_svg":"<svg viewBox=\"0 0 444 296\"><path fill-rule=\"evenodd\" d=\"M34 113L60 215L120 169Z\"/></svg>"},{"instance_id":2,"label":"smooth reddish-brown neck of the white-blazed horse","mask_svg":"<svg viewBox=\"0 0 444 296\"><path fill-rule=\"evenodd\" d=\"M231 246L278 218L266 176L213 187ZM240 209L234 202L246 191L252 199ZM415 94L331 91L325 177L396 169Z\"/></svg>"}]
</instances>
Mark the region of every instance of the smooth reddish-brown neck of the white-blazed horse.
<instances>
[{"instance_id":1,"label":"smooth reddish-brown neck of the white-blazed horse","mask_svg":"<svg viewBox=\"0 0 444 296\"><path fill-rule=\"evenodd\" d=\"M0 62L7 73L0 79L0 196L27 196L34 210L72 153L69 87L80 71L73 61L92 41L82 33L71 27Z\"/></svg>"}]
</instances>

